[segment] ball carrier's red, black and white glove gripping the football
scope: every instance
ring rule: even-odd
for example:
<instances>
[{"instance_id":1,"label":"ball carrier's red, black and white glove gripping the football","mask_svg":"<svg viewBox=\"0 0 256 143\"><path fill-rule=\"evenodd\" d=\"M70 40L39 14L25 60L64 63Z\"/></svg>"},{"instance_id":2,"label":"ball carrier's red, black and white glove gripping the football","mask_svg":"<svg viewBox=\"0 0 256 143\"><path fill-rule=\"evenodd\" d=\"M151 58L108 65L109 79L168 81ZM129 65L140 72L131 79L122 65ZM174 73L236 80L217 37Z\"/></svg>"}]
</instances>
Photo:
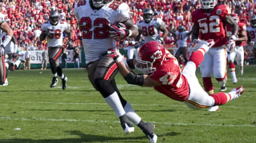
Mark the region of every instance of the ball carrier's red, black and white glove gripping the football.
<instances>
[{"instance_id":1,"label":"ball carrier's red, black and white glove gripping the football","mask_svg":"<svg viewBox=\"0 0 256 143\"><path fill-rule=\"evenodd\" d=\"M117 23L110 26L109 31L110 37L116 41L126 38L127 36L132 35L131 30L127 30L123 24Z\"/></svg>"}]
</instances>

